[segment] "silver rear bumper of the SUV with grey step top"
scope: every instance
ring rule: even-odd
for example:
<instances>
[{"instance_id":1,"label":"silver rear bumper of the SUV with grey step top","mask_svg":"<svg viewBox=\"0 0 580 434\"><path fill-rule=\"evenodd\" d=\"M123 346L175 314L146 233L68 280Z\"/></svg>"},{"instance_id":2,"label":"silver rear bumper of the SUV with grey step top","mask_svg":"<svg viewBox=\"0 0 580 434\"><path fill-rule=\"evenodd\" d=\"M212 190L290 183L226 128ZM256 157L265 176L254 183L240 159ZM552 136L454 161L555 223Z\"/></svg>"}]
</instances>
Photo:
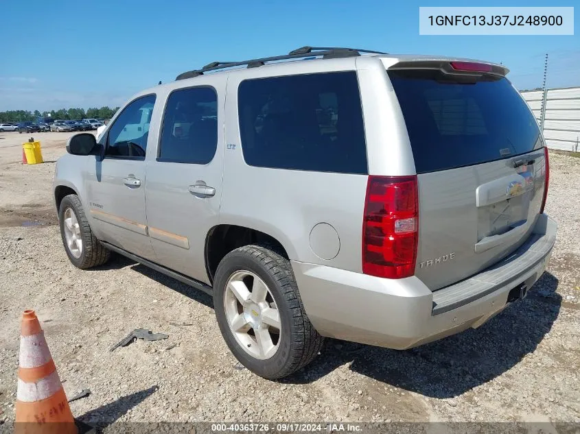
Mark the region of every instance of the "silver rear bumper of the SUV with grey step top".
<instances>
[{"instance_id":1,"label":"silver rear bumper of the SUV with grey step top","mask_svg":"<svg viewBox=\"0 0 580 434\"><path fill-rule=\"evenodd\" d=\"M419 278L384 279L292 261L310 321L323 336L403 350L476 328L507 306L509 292L542 276L557 225L538 217L507 258L455 285L430 291Z\"/></svg>"}]
</instances>

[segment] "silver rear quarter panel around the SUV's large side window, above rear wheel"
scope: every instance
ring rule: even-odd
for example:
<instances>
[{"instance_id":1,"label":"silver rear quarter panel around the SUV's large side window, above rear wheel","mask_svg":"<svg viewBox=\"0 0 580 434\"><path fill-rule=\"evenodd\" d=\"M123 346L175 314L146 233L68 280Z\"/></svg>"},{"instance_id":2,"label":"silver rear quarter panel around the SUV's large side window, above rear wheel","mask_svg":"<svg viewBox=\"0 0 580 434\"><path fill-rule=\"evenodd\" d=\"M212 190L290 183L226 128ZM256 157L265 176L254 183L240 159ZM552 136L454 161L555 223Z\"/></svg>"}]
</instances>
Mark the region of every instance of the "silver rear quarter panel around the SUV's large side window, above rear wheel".
<instances>
[{"instance_id":1,"label":"silver rear quarter panel around the SUV's large side window, above rear wheel","mask_svg":"<svg viewBox=\"0 0 580 434\"><path fill-rule=\"evenodd\" d=\"M220 223L245 226L269 234L283 245L294 261L362 272L362 213L368 177L247 165L237 109L237 88L246 78L352 71L354 67L353 59L312 60L280 67L272 65L247 69L230 75L226 98L227 149L224 149ZM235 145L235 148L228 144ZM339 250L334 258L322 258L312 249L311 232L314 226L321 223L332 226L338 235L332 229L313 234L316 239L314 250L320 254L319 248L334 243L338 237Z\"/></svg>"}]
</instances>

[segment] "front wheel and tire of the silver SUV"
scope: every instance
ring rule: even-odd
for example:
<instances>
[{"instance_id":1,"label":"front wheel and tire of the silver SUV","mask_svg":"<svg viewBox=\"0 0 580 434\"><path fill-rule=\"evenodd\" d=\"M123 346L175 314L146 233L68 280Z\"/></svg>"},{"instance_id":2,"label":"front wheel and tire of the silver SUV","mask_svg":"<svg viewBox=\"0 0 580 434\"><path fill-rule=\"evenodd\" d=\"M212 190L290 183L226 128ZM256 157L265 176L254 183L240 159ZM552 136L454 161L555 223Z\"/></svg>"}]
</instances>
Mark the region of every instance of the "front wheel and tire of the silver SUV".
<instances>
[{"instance_id":1,"label":"front wheel and tire of the silver SUV","mask_svg":"<svg viewBox=\"0 0 580 434\"><path fill-rule=\"evenodd\" d=\"M67 195L58 210L60 236L71 263L87 269L103 265L111 252L93 235L77 195Z\"/></svg>"}]
</instances>

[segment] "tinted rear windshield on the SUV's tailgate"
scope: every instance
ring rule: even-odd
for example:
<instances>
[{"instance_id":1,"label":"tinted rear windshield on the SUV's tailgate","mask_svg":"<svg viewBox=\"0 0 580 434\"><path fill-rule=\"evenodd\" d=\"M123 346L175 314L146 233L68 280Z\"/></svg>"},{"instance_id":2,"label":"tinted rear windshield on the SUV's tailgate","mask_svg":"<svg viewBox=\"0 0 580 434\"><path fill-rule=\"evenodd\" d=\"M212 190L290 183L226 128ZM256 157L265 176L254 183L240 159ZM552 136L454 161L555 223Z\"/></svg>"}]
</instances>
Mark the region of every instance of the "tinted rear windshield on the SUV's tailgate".
<instances>
[{"instance_id":1,"label":"tinted rear windshield on the SUV's tailgate","mask_svg":"<svg viewBox=\"0 0 580 434\"><path fill-rule=\"evenodd\" d=\"M431 70L388 75L417 173L500 160L542 146L533 114L505 77L454 82Z\"/></svg>"}]
</instances>

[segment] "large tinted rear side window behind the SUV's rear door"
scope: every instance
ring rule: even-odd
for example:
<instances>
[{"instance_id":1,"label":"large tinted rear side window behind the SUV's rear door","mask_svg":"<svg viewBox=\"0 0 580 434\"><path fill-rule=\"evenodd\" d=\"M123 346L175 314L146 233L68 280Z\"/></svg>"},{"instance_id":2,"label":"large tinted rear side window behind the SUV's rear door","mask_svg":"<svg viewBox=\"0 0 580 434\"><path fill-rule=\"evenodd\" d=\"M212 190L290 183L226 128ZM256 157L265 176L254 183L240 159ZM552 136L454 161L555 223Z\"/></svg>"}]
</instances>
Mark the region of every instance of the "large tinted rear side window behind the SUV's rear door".
<instances>
[{"instance_id":1,"label":"large tinted rear side window behind the SUV's rear door","mask_svg":"<svg viewBox=\"0 0 580 434\"><path fill-rule=\"evenodd\" d=\"M354 72L245 80L238 110L248 165L367 173Z\"/></svg>"}]
</instances>

